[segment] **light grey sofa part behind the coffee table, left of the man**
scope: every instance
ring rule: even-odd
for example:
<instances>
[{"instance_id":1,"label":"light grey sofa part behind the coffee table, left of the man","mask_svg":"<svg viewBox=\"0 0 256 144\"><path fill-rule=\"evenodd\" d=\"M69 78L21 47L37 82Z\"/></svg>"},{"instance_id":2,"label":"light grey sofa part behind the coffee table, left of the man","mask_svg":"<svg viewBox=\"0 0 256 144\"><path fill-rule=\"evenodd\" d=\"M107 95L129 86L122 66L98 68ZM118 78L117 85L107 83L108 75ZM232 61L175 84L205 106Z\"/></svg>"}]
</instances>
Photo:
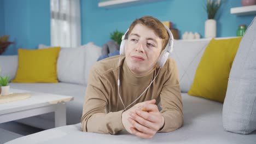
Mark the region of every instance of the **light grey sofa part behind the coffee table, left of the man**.
<instances>
[{"instance_id":1,"label":"light grey sofa part behind the coffee table, left of the man","mask_svg":"<svg viewBox=\"0 0 256 144\"><path fill-rule=\"evenodd\" d=\"M39 45L39 49L47 47ZM92 64L101 55L101 47L88 43L76 48L62 48L57 59L57 77L59 83L9 83L10 88L28 91L68 95L74 97L67 106L67 124L80 122L83 111L83 101L87 85L88 73ZM0 56L0 75L9 75L14 79L18 69L18 56ZM28 72L29 73L29 72ZM20 123L41 129L55 127L54 113L24 118Z\"/></svg>"}]
</instances>

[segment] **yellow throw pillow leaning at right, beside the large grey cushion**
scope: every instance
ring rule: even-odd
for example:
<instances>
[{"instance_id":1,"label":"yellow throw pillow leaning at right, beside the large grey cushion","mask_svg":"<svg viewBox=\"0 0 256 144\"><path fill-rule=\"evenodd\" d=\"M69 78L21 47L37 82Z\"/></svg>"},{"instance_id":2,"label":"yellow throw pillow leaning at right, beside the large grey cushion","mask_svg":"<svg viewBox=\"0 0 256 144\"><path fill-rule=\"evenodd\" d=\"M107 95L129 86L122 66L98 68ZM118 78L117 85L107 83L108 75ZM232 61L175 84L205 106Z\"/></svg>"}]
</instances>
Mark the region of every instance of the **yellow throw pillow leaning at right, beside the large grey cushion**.
<instances>
[{"instance_id":1,"label":"yellow throw pillow leaning at right, beside the large grey cushion","mask_svg":"<svg viewBox=\"0 0 256 144\"><path fill-rule=\"evenodd\" d=\"M189 95L223 103L229 72L240 41L241 37L210 41L196 69Z\"/></svg>"}]
</instances>

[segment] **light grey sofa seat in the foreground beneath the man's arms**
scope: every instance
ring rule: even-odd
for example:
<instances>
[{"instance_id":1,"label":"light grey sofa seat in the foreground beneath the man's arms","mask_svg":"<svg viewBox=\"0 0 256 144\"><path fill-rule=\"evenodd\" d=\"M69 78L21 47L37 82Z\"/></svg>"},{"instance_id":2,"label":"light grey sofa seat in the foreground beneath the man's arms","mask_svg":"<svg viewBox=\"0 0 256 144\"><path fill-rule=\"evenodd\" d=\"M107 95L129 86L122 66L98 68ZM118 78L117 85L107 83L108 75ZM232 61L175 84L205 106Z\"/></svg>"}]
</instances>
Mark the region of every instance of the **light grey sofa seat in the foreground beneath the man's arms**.
<instances>
[{"instance_id":1,"label":"light grey sofa seat in the foreground beneath the man's arms","mask_svg":"<svg viewBox=\"0 0 256 144\"><path fill-rule=\"evenodd\" d=\"M118 135L86 133L80 123L44 130L8 142L15 143L255 143L256 131L239 135L223 130L223 104L182 93L184 125L170 133L156 133L152 139L140 139L125 130ZM44 139L42 139L44 137Z\"/></svg>"}]
</instances>

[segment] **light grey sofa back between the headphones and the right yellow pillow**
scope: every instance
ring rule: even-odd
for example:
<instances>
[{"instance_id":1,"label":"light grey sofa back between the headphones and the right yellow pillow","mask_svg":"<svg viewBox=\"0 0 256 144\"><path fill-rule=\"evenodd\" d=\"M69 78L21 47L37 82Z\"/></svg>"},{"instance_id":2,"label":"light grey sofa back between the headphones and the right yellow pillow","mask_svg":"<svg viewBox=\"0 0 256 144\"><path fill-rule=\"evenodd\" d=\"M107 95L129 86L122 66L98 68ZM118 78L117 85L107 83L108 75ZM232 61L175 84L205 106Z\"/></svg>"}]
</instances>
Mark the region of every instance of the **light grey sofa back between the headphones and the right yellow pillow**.
<instances>
[{"instance_id":1,"label":"light grey sofa back between the headphones and the right yellow pillow","mask_svg":"<svg viewBox=\"0 0 256 144\"><path fill-rule=\"evenodd\" d=\"M170 53L170 57L177 63L182 92L189 91L194 81L197 65L209 42L210 39L174 40L173 51Z\"/></svg>"}]
</instances>

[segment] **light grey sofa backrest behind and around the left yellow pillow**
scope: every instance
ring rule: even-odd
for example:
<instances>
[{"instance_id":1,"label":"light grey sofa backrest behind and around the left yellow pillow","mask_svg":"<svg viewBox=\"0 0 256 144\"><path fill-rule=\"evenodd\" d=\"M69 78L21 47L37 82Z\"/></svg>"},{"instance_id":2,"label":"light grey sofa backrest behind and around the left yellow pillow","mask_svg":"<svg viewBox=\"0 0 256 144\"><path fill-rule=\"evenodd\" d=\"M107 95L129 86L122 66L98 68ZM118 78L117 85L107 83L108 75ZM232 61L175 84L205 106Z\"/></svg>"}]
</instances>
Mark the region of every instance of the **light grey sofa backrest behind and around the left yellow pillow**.
<instances>
[{"instance_id":1,"label":"light grey sofa backrest behind and around the left yellow pillow","mask_svg":"<svg viewBox=\"0 0 256 144\"><path fill-rule=\"evenodd\" d=\"M50 46L39 45L39 49ZM57 59L57 78L60 82L87 85L91 66L101 55L101 47L88 43L76 48L61 48ZM18 69L18 55L0 56L0 76L8 75L13 80Z\"/></svg>"}]
</instances>

